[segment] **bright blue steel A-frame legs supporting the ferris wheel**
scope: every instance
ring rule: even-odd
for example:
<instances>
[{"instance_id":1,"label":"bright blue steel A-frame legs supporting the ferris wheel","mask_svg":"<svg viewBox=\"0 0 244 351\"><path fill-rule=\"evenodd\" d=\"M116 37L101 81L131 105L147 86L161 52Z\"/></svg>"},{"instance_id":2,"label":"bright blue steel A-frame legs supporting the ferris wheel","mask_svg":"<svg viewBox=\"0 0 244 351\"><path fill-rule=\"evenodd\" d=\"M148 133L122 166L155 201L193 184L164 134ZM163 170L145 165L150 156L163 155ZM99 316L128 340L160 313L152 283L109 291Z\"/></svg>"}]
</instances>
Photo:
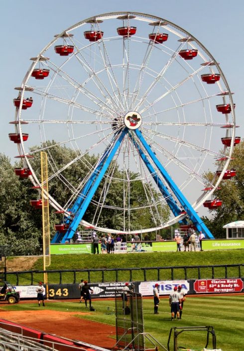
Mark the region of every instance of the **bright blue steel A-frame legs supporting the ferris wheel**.
<instances>
[{"instance_id":1,"label":"bright blue steel A-frame legs supporting the ferris wheel","mask_svg":"<svg viewBox=\"0 0 244 351\"><path fill-rule=\"evenodd\" d=\"M193 209L191 204L187 201L185 196L181 193L177 185L173 182L171 177L168 175L166 172L165 168L161 165L159 160L157 159L156 155L154 152L151 150L150 145L146 142L144 137L142 136L142 133L138 130L135 129L133 130L141 144L143 145L144 149L146 150L148 156L152 160L152 162L155 164L157 169L159 170L160 174L164 178L165 182L167 183L168 187L166 187L161 179L158 177L157 173L155 172L154 167L152 166L152 163L149 161L148 157L146 154L143 152L137 141L135 140L134 136L131 135L131 130L129 131L129 138L131 142L134 144L136 149L138 150L138 153L145 163L148 171L150 172L153 180L155 181L158 189L160 192L163 194L170 210L174 214L174 216L179 216L182 212L182 210L179 208L175 200L173 199L172 193L174 196L178 199L180 205L184 209L184 211L187 213L189 219L192 221L194 226L197 228L197 230L200 232L202 231L204 234L207 235L209 238L214 238L214 236L211 234L209 229L206 227L206 225L203 223L201 218L198 216L196 211ZM85 186L83 187L81 193L79 194L78 198L76 199L75 203L69 210L71 213L70 216L66 217L64 222L66 225L69 226L68 230L63 234L62 232L57 232L55 236L52 239L52 243L57 243L57 242L66 242L70 241L72 239L73 235L75 234L78 225L80 224L100 182L102 181L109 165L111 164L116 151L120 147L122 140L124 136L128 133L128 129L125 127L121 132L115 133L114 139L112 140L111 144L106 148L105 152L103 155L100 157L96 168L92 172L91 176L89 177L88 181L86 182ZM169 191L169 188L171 192ZM186 219L183 219L179 221L181 223L187 223Z\"/></svg>"}]
</instances>

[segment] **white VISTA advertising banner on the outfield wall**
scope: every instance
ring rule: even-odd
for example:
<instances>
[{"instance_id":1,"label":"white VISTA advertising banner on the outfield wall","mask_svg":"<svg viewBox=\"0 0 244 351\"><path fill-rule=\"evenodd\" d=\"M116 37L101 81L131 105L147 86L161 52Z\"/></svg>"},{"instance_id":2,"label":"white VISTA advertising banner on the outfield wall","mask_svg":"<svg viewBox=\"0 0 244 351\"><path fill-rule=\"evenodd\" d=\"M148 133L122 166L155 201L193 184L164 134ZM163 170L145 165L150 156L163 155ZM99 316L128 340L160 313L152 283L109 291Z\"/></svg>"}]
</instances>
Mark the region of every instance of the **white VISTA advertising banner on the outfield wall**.
<instances>
[{"instance_id":1,"label":"white VISTA advertising banner on the outfield wall","mask_svg":"<svg viewBox=\"0 0 244 351\"><path fill-rule=\"evenodd\" d=\"M181 285L182 291L184 291L186 294L190 289L190 285L187 280L150 281L141 282L139 284L139 293L142 296L152 296L156 283L159 285L159 295L169 295L172 291L174 291L174 287L178 287L179 285Z\"/></svg>"}]
</instances>

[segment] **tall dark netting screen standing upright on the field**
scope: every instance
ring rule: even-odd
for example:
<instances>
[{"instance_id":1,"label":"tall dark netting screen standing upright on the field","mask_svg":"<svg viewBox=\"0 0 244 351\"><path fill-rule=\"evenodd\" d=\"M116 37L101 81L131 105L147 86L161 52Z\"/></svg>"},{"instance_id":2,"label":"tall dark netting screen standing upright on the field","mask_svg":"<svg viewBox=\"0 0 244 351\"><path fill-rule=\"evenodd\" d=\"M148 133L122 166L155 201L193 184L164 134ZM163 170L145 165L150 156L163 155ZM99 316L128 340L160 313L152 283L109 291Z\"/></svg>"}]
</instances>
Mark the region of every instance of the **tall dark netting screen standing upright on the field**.
<instances>
[{"instance_id":1,"label":"tall dark netting screen standing upright on the field","mask_svg":"<svg viewBox=\"0 0 244 351\"><path fill-rule=\"evenodd\" d=\"M144 326L141 294L116 291L116 340L117 347L144 351Z\"/></svg>"}]
</instances>

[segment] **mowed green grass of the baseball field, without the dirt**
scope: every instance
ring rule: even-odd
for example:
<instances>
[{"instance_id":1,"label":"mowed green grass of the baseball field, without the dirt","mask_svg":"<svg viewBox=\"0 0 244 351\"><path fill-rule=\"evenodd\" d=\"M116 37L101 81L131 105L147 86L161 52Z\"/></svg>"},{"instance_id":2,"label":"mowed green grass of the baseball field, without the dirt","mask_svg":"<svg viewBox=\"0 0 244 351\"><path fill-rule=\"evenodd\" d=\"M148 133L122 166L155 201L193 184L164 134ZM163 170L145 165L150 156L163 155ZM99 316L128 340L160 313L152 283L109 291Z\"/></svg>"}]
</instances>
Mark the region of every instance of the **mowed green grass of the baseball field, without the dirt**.
<instances>
[{"instance_id":1,"label":"mowed green grass of the baseball field, without the dirt","mask_svg":"<svg viewBox=\"0 0 244 351\"><path fill-rule=\"evenodd\" d=\"M93 300L96 312L79 315L92 321L115 325L115 315L107 314L108 307L113 312L114 300ZM85 312L84 305L77 301L47 302L46 309L69 312ZM1 305L6 311L38 310L36 302ZM78 317L78 315L77 315ZM171 322L167 298L161 298L159 315L153 314L153 300L143 299L144 331L150 333L167 347L168 335L172 327L213 326L217 337L217 348L222 351L244 351L244 295L237 296L188 296L184 303L182 319ZM23 323L24 324L24 323ZM179 346L203 348L206 344L205 332L187 332L179 337ZM209 348L211 349L211 343ZM172 345L171 345L172 350Z\"/></svg>"}]
</instances>

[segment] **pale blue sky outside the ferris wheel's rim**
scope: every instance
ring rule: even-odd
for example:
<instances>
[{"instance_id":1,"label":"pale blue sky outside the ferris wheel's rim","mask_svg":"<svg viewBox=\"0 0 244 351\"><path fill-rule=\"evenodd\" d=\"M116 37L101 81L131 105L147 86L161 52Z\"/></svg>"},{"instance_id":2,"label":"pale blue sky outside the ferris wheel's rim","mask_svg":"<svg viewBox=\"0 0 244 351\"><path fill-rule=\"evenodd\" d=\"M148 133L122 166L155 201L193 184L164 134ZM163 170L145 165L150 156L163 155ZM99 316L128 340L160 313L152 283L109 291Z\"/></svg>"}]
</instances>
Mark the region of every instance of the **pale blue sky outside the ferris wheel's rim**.
<instances>
[{"instance_id":1,"label":"pale blue sky outside the ferris wheel's rim","mask_svg":"<svg viewBox=\"0 0 244 351\"><path fill-rule=\"evenodd\" d=\"M236 135L243 137L244 2L243 0L5 0L1 1L1 129L0 152L17 155L9 141L15 109L14 87L20 86L30 65L54 34L90 16L113 11L137 11L160 16L192 33L221 64L235 93Z\"/></svg>"}]
</instances>

